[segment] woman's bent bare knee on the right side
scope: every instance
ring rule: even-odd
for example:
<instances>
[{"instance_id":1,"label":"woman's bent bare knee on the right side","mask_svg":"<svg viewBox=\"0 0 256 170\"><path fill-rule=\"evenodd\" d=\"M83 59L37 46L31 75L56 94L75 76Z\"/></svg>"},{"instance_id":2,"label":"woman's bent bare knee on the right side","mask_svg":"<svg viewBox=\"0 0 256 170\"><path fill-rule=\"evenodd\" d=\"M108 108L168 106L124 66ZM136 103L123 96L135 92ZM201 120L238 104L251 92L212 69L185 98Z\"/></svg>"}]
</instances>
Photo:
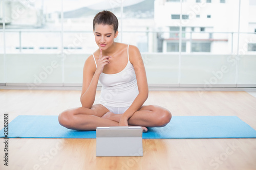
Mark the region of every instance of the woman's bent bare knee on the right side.
<instances>
[{"instance_id":1,"label":"woman's bent bare knee on the right side","mask_svg":"<svg viewBox=\"0 0 256 170\"><path fill-rule=\"evenodd\" d=\"M172 119L172 113L167 109L159 109L157 112L157 127L166 126L170 122L170 119Z\"/></svg>"}]
</instances>

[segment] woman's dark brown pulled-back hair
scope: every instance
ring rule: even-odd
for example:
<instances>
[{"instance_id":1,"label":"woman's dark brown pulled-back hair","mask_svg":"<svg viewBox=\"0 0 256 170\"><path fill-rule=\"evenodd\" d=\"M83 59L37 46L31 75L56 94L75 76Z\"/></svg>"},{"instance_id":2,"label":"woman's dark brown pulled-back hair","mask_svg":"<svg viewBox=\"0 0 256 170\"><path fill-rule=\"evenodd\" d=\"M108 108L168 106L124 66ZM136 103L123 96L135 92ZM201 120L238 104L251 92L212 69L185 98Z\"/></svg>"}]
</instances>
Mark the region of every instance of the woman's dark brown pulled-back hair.
<instances>
[{"instance_id":1,"label":"woman's dark brown pulled-back hair","mask_svg":"<svg viewBox=\"0 0 256 170\"><path fill-rule=\"evenodd\" d=\"M95 29L96 23L113 26L115 33L117 32L118 19L117 19L116 15L110 11L104 10L95 15L95 17L93 18L93 30Z\"/></svg>"}]
</instances>

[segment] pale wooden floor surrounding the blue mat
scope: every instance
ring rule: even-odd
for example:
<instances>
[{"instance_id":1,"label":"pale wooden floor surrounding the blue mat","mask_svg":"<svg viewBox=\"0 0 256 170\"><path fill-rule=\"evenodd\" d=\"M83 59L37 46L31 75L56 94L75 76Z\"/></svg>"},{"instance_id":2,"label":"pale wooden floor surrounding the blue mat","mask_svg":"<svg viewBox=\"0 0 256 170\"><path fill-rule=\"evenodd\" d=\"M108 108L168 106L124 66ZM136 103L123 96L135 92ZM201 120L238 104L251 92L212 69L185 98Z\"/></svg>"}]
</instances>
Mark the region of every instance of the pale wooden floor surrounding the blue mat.
<instances>
[{"instance_id":1,"label":"pale wooden floor surrounding the blue mat","mask_svg":"<svg viewBox=\"0 0 256 170\"><path fill-rule=\"evenodd\" d=\"M79 107L79 98L75 90L0 90L0 129L5 112L9 121L58 115ZM243 91L150 91L145 104L173 115L237 115L256 129L256 98ZM0 169L256 169L256 138L143 139L143 157L96 157L96 139L10 138L8 167L3 140Z\"/></svg>"}]
</instances>

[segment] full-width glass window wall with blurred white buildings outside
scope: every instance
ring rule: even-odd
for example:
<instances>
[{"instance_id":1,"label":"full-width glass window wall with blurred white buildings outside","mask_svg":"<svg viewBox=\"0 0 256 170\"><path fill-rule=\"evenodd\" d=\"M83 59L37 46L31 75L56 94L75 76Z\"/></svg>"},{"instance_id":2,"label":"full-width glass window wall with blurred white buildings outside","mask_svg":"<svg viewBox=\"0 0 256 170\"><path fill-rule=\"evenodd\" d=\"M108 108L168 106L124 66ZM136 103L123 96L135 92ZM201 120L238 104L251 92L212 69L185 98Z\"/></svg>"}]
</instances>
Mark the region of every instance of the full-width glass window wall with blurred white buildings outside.
<instances>
[{"instance_id":1,"label":"full-width glass window wall with blurred white buildings outside","mask_svg":"<svg viewBox=\"0 0 256 170\"><path fill-rule=\"evenodd\" d=\"M192 80L195 76L193 80L200 80L197 74L193 74L193 70L198 69L206 76L201 75L202 81L197 84L203 83L205 77L212 76L208 74L212 70L205 68L216 65L212 69L218 70L218 64L230 64L227 61L235 59L228 57L237 54L239 50L243 50L239 51L243 57L237 61L240 64L240 78L237 80L242 84L256 84L253 76L245 79L244 75L246 69L250 69L250 74L256 75L255 64L252 64L256 61L256 18L253 17L256 16L256 5L253 1L241 1L240 6L239 0L206 0L208 4L202 8L200 3L205 1L196 0L25 2L0 1L0 84L33 84L38 81L35 76L40 76L43 68L51 61L56 61L58 67L54 68L53 73L47 75L45 80L40 81L42 85L52 83L65 86L81 83L84 60L98 48L92 34L92 20L95 14L102 10L110 10L118 17L119 34L115 41L130 43L139 48L145 59L149 84L179 84L179 58L184 61L181 64L182 69L189 70L186 75L180 72L181 77L190 77ZM5 29L3 9L6 17ZM14 18L16 9L23 11L23 14L15 15ZM241 20L240 30L239 10L240 18L248 18ZM232 13L235 18L230 18L226 13ZM177 54L179 50L182 55ZM65 59L62 60L63 56ZM190 59L194 61L194 68L190 67ZM198 61L202 63L197 65ZM14 67L17 69L11 69ZM163 76L156 77L156 71ZM224 83L232 84L236 68L230 68L228 74L230 81ZM221 81L220 83L223 83ZM190 83L186 79L181 82Z\"/></svg>"}]
</instances>

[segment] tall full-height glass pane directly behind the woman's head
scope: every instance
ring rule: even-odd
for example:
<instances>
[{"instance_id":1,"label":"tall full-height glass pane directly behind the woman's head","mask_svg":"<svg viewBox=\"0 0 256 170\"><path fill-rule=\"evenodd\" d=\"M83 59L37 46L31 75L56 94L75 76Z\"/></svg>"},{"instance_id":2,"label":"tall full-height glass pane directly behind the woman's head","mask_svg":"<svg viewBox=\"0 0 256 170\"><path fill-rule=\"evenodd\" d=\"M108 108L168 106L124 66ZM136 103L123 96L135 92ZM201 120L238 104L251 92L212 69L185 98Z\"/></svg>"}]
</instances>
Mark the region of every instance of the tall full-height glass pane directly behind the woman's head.
<instances>
[{"instance_id":1,"label":"tall full-height glass pane directly behind the woman's head","mask_svg":"<svg viewBox=\"0 0 256 170\"><path fill-rule=\"evenodd\" d=\"M120 17L121 1L63 1L63 53L65 84L82 84L86 59L98 49L93 34L93 18L103 10ZM120 22L120 21L119 21ZM116 41L118 38L116 39Z\"/></svg>"}]
</instances>

